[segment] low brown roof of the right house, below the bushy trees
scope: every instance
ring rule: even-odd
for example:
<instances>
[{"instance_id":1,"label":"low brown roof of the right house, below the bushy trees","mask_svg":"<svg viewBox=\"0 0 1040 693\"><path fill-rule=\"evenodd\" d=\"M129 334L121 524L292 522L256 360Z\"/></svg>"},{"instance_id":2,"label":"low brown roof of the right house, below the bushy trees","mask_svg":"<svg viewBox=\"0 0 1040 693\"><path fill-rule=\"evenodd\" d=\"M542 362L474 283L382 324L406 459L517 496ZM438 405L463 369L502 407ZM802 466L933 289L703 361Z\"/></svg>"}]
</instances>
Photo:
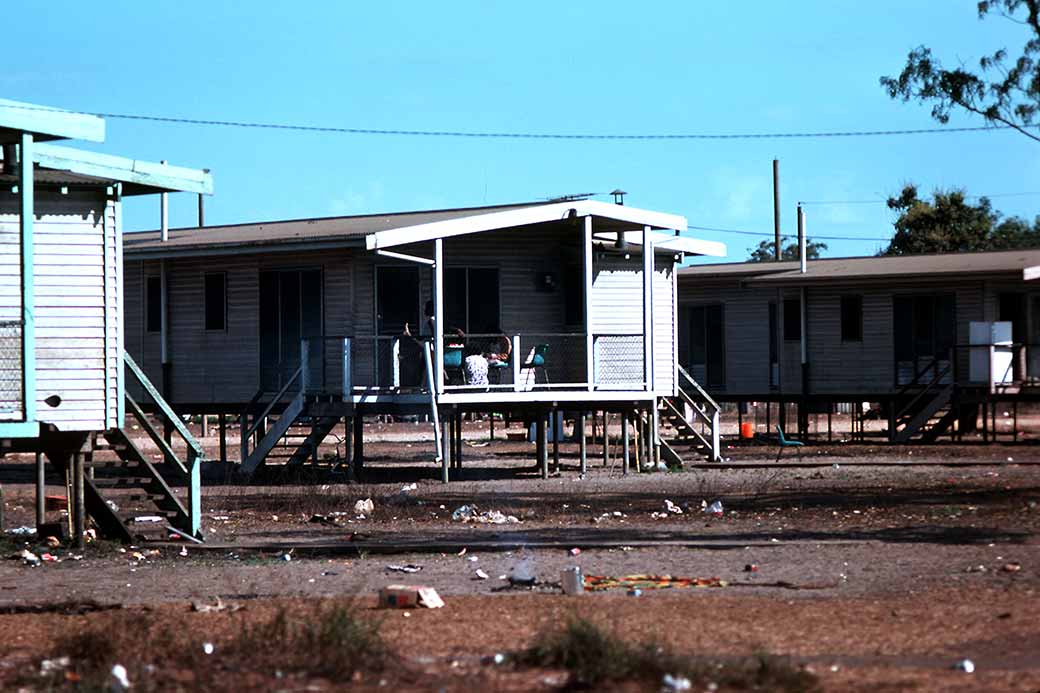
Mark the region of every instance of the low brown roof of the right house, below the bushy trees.
<instances>
[{"instance_id":1,"label":"low brown roof of the right house, below the bushy trees","mask_svg":"<svg viewBox=\"0 0 1040 693\"><path fill-rule=\"evenodd\" d=\"M1021 273L1040 264L1040 250L944 253L884 257L842 257L809 260L806 273L798 262L740 262L683 267L679 279L742 280L756 284L799 284L824 281L861 281L880 278L928 278L964 274Z\"/></svg>"}]
</instances>

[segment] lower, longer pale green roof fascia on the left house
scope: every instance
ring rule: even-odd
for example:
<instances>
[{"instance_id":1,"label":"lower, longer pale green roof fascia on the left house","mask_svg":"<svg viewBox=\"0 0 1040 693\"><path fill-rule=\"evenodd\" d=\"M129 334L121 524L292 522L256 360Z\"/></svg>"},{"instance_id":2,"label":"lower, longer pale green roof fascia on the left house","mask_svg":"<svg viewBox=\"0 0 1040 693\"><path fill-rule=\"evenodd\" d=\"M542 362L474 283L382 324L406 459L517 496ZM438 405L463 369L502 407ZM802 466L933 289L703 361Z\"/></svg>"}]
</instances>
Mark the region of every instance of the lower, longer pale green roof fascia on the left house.
<instances>
[{"instance_id":1,"label":"lower, longer pale green roof fascia on the left house","mask_svg":"<svg viewBox=\"0 0 1040 693\"><path fill-rule=\"evenodd\" d=\"M138 161L57 145L40 145L33 160L46 169L140 185L147 188L141 192L213 194L213 176L199 169ZM124 189L123 194L131 191Z\"/></svg>"}]
</instances>

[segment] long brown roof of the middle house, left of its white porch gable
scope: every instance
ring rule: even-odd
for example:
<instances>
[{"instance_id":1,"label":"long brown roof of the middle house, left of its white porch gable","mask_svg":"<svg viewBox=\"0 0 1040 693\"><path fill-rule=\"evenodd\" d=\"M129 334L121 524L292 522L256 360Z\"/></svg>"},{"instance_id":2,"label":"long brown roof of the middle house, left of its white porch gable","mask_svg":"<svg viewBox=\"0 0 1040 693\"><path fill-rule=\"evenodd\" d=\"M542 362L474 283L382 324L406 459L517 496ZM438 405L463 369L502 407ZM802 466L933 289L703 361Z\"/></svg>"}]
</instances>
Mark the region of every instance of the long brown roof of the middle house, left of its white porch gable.
<instances>
[{"instance_id":1,"label":"long brown roof of the middle house, left of its white porch gable","mask_svg":"<svg viewBox=\"0 0 1040 693\"><path fill-rule=\"evenodd\" d=\"M124 234L123 247L128 256L144 254L157 256L192 251L205 254L229 249L302 243L359 245L363 247L365 236L375 231L387 231L541 204L546 203L526 202L488 207L461 207L390 214L326 216L284 222L171 229L170 238L165 242L159 240L158 231L144 231Z\"/></svg>"}]
</instances>

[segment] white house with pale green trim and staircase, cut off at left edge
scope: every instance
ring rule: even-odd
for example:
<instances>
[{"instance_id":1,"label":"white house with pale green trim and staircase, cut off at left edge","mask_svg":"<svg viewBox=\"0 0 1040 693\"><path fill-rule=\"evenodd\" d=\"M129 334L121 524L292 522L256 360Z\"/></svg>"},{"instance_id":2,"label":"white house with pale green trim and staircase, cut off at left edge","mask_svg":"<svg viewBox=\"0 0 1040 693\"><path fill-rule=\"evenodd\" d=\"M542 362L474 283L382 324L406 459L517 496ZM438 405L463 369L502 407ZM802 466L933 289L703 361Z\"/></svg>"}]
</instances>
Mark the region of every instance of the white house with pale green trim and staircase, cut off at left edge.
<instances>
[{"instance_id":1,"label":"white house with pale green trim and staircase, cut off at left edge","mask_svg":"<svg viewBox=\"0 0 1040 693\"><path fill-rule=\"evenodd\" d=\"M154 397L147 406L168 411L123 349L122 201L209 194L212 179L50 143L104 133L100 118L0 100L0 454L36 454L37 523L45 461L63 476L79 542L88 516L123 540L144 514L162 520L149 527L163 536L197 537L202 450L173 417L186 441L186 454L175 453L141 413L146 403L127 396L131 381ZM159 443L161 463L127 436L127 418Z\"/></svg>"}]
</instances>

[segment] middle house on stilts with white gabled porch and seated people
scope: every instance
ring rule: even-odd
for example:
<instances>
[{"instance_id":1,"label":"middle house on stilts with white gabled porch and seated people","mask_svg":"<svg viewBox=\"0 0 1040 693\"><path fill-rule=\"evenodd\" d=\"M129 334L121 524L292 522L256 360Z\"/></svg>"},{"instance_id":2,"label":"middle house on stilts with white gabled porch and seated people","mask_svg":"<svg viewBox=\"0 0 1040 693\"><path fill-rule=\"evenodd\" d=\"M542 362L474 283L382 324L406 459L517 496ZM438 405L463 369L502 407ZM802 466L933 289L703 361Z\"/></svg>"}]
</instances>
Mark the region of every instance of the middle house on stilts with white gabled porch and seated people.
<instances>
[{"instance_id":1,"label":"middle house on stilts with white gabled porch and seated people","mask_svg":"<svg viewBox=\"0 0 1040 693\"><path fill-rule=\"evenodd\" d=\"M319 463L341 422L359 470L365 417L417 414L448 481L467 411L532 419L543 474L556 411L579 430L620 414L644 460L717 459L718 406L676 360L676 270L725 248L685 230L569 199L132 234L127 344L178 413L219 416L222 459L245 474ZM488 352L509 356L467 381Z\"/></svg>"}]
</instances>

